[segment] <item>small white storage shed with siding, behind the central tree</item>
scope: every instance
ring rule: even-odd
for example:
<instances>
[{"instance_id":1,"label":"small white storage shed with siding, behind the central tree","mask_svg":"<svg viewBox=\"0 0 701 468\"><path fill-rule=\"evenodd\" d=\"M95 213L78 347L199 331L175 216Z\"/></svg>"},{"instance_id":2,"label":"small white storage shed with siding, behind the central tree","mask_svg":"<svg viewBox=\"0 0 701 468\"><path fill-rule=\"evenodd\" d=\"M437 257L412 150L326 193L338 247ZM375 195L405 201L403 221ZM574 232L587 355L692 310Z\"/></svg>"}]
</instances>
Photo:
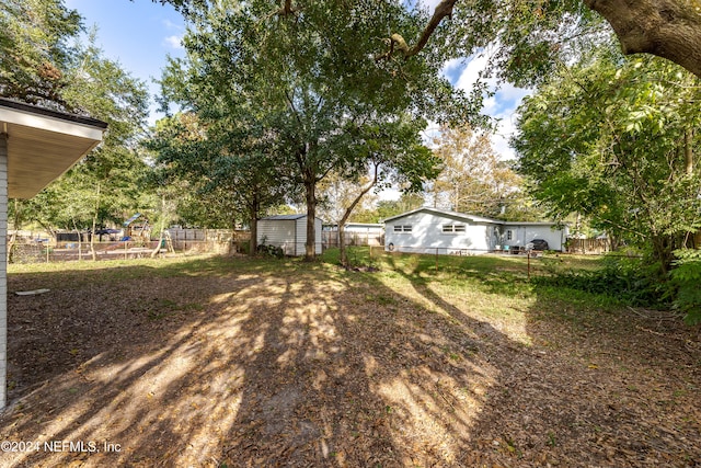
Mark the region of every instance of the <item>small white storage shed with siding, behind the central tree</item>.
<instances>
[{"instance_id":1,"label":"small white storage shed with siding, behind the central tree","mask_svg":"<svg viewBox=\"0 0 701 468\"><path fill-rule=\"evenodd\" d=\"M321 219L314 220L314 252L321 253ZM286 255L303 255L307 215L275 215L258 219L257 243L283 248Z\"/></svg>"}]
</instances>

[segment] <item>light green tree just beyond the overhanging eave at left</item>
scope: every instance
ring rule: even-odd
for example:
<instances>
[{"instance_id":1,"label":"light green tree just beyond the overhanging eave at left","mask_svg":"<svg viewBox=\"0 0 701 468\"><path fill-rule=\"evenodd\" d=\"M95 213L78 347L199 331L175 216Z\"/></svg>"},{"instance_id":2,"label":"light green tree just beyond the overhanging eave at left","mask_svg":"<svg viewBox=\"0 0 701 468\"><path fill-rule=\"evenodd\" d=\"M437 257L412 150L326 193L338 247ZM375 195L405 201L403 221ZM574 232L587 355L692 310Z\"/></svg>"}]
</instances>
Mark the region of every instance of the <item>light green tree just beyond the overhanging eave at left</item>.
<instances>
[{"instance_id":1,"label":"light green tree just beyond the overhanging eave at left","mask_svg":"<svg viewBox=\"0 0 701 468\"><path fill-rule=\"evenodd\" d=\"M149 167L136 151L148 114L146 85L103 57L94 35L90 41L73 47L73 60L64 71L71 80L61 96L108 127L96 149L36 197L23 202L26 217L48 229L85 229L93 221L118 226L151 203L140 190Z\"/></svg>"}]
</instances>

